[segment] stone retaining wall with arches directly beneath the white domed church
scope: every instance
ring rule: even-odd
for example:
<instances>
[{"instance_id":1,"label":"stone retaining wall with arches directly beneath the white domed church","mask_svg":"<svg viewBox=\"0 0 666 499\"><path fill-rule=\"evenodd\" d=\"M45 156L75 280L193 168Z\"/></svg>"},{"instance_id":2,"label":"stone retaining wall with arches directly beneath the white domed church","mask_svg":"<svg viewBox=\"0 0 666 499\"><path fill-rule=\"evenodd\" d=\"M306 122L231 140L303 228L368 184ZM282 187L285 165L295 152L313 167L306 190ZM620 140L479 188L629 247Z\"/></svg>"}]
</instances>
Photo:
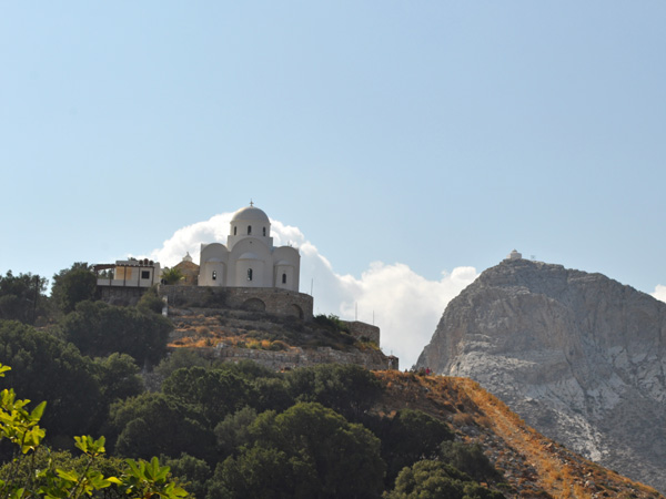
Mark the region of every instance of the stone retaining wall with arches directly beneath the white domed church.
<instances>
[{"instance_id":1,"label":"stone retaining wall with arches directly beneath the white domed church","mask_svg":"<svg viewBox=\"0 0 666 499\"><path fill-rule=\"evenodd\" d=\"M170 306L239 308L312 319L312 296L276 287L168 286L158 293Z\"/></svg>"}]
</instances>

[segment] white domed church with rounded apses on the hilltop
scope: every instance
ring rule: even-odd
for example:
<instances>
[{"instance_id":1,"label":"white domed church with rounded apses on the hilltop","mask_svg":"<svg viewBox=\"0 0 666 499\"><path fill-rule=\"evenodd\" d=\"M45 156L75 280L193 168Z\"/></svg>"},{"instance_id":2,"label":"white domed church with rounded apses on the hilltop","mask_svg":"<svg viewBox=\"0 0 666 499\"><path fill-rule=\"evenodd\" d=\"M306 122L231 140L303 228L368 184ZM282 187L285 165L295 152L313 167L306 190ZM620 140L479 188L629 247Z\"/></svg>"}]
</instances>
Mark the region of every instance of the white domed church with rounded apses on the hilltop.
<instances>
[{"instance_id":1,"label":"white domed church with rounded apses on the hilltop","mask_svg":"<svg viewBox=\"0 0 666 499\"><path fill-rule=\"evenodd\" d=\"M231 218L226 246L202 244L199 286L278 287L299 291L301 255L291 246L273 246L266 214L250 206Z\"/></svg>"}]
</instances>

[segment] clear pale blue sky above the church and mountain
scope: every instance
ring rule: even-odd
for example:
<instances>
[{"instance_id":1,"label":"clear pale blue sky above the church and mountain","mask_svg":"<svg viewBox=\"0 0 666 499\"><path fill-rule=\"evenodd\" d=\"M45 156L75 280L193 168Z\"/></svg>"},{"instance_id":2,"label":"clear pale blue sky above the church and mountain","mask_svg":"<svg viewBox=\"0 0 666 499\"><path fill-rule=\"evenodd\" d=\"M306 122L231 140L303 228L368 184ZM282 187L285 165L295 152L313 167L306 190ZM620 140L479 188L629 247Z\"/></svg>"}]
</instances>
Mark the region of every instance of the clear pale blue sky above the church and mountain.
<instances>
[{"instance_id":1,"label":"clear pale blue sky above the church and mountain","mask_svg":"<svg viewBox=\"0 0 666 499\"><path fill-rule=\"evenodd\" d=\"M357 282L515 247L655 293L665 14L0 0L0 273L153 254L252 198Z\"/></svg>"}]
</instances>

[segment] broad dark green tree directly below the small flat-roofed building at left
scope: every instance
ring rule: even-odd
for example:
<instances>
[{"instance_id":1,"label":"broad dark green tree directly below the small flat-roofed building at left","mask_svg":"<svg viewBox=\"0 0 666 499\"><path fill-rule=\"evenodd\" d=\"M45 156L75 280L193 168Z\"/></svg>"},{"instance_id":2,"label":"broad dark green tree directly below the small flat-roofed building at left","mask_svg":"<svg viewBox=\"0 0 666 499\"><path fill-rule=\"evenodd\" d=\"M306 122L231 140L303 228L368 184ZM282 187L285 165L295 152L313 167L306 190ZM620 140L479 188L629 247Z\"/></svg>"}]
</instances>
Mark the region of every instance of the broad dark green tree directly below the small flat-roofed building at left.
<instances>
[{"instance_id":1,"label":"broad dark green tree directly below the small flat-roofed building at left","mask_svg":"<svg viewBox=\"0 0 666 499\"><path fill-rule=\"evenodd\" d=\"M165 355L172 329L165 317L103 302L81 302L60 323L62 337L84 355L105 357L118 352L140 364L157 364Z\"/></svg>"}]
</instances>

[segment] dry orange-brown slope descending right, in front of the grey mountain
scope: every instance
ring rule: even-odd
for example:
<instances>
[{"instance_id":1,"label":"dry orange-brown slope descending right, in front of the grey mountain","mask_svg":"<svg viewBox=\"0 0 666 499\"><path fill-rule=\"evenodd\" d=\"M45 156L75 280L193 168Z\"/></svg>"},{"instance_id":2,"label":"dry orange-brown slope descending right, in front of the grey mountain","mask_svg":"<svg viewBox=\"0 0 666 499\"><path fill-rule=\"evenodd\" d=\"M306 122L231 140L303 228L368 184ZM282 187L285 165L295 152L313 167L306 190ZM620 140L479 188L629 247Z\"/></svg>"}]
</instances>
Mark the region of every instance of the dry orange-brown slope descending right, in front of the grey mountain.
<instances>
[{"instance_id":1,"label":"dry orange-brown slope descending right, in front of the grey mountain","mask_svg":"<svg viewBox=\"0 0 666 499\"><path fill-rule=\"evenodd\" d=\"M377 411L422 410L451 424L458 440L478 444L502 478L506 498L663 498L655 489L598 466L544 437L468 378L376 373L385 384Z\"/></svg>"}]
</instances>

